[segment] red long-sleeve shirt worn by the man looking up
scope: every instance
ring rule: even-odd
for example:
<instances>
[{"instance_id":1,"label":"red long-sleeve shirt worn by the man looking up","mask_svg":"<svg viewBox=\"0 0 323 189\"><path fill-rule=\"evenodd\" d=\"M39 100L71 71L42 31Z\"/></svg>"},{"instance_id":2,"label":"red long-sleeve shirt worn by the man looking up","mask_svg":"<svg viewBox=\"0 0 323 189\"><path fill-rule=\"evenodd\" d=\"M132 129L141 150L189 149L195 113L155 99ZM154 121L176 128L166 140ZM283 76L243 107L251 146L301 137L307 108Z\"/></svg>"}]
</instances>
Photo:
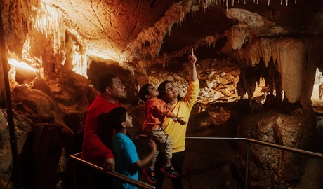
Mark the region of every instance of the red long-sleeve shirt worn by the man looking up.
<instances>
[{"instance_id":1,"label":"red long-sleeve shirt worn by the man looking up","mask_svg":"<svg viewBox=\"0 0 323 189\"><path fill-rule=\"evenodd\" d=\"M86 113L81 153L81 158L83 160L102 167L105 159L114 158L111 149L107 148L98 137L98 116L100 116L101 113L109 113L112 109L119 106L119 102L112 104L102 95L98 95L92 102ZM112 126L107 124L107 127ZM111 133L108 134L108 136L111 138L114 133L113 128L111 128L110 131ZM108 139L107 141L111 141L111 139Z\"/></svg>"}]
</instances>

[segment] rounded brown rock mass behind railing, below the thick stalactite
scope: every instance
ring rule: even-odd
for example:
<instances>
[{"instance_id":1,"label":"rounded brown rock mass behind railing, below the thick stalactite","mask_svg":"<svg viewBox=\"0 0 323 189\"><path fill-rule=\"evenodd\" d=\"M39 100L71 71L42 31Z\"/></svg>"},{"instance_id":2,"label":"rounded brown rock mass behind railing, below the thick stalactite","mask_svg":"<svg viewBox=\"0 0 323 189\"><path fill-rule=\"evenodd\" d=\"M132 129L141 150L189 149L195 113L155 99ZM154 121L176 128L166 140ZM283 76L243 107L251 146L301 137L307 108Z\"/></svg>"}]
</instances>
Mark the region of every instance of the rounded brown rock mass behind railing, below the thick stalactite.
<instances>
[{"instance_id":1,"label":"rounded brown rock mass behind railing, below the thick stalactite","mask_svg":"<svg viewBox=\"0 0 323 189\"><path fill-rule=\"evenodd\" d=\"M289 114L281 111L261 111L244 116L239 122L239 137L247 137L299 148L315 149L315 113L312 109L295 109ZM237 164L246 169L246 144L238 144ZM305 172L308 157L280 149L250 144L251 188L284 188L297 186ZM242 163L244 162L244 163ZM297 165L297 166L296 166ZM239 167L239 166L238 166Z\"/></svg>"}]
</instances>

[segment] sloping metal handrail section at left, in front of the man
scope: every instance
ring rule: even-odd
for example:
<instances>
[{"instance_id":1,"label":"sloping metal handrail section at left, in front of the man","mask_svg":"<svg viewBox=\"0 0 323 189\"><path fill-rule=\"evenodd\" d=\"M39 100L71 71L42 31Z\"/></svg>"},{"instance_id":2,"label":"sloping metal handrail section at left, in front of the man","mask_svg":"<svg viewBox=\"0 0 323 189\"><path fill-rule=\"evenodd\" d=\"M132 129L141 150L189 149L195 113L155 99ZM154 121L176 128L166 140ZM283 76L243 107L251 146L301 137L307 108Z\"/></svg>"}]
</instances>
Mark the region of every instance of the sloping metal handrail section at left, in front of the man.
<instances>
[{"instance_id":1,"label":"sloping metal handrail section at left, in front of the man","mask_svg":"<svg viewBox=\"0 0 323 189\"><path fill-rule=\"evenodd\" d=\"M81 152L70 155L70 158L72 158L72 160L75 160L76 162L80 162L81 164L87 165L88 167L92 167L94 169L97 169L98 171L102 172L103 174L107 174L109 176L112 176L115 179L119 179L119 180L124 181L126 183L130 183L133 186L137 186L138 188L147 188L147 189L154 188L154 186L151 186L150 184L131 179L128 176L124 176L123 174L119 174L117 172L103 172L102 167L99 167L98 165L94 165L90 162L82 160L81 158L79 158L80 156L81 156ZM74 187L76 188L76 186L77 186L77 183L76 183L76 174L75 174L75 167L74 167Z\"/></svg>"}]
</instances>

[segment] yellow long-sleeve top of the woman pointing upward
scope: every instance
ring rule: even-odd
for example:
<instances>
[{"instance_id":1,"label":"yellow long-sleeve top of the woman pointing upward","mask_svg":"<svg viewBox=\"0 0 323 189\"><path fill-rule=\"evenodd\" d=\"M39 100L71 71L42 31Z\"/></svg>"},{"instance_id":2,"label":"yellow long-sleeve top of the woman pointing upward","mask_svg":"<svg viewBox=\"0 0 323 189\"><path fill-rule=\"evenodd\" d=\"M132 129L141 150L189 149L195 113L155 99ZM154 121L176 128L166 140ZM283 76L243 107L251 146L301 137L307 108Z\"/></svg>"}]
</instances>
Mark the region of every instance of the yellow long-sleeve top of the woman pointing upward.
<instances>
[{"instance_id":1,"label":"yellow long-sleeve top of the woman pointing upward","mask_svg":"<svg viewBox=\"0 0 323 189\"><path fill-rule=\"evenodd\" d=\"M183 99L172 105L173 113L178 117L184 117L185 125L175 123L171 118L165 118L164 130L173 139L173 153L185 150L186 127L193 105L199 92L199 80L190 82L187 93Z\"/></svg>"}]
</instances>

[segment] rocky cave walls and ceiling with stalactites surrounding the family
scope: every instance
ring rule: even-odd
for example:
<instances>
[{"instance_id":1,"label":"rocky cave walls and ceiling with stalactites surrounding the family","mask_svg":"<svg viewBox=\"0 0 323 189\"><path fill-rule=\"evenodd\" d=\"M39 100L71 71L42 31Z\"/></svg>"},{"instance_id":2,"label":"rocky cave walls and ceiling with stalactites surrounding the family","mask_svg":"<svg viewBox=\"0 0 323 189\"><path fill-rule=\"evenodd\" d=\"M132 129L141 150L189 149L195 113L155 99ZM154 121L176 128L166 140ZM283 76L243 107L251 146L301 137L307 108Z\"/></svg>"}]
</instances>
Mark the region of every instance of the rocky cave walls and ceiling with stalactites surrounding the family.
<instances>
[{"instance_id":1,"label":"rocky cave walls and ceiling with stalactites surrounding the family","mask_svg":"<svg viewBox=\"0 0 323 189\"><path fill-rule=\"evenodd\" d=\"M185 94L192 48L201 88L191 136L251 137L316 150L312 106L320 112L323 1L8 0L1 16L25 188L67 187L67 157L80 151L86 109L103 73L117 73L126 86L122 103L136 115L136 135L143 123L138 88L167 79ZM10 188L15 172L4 82L1 74L0 185ZM222 148L223 159L216 156ZM249 186L297 186L306 159L263 151L265 158L251 149ZM244 146L187 141L187 154L202 162L185 163L190 188L243 186ZM195 180L206 173L228 176Z\"/></svg>"}]
</instances>

